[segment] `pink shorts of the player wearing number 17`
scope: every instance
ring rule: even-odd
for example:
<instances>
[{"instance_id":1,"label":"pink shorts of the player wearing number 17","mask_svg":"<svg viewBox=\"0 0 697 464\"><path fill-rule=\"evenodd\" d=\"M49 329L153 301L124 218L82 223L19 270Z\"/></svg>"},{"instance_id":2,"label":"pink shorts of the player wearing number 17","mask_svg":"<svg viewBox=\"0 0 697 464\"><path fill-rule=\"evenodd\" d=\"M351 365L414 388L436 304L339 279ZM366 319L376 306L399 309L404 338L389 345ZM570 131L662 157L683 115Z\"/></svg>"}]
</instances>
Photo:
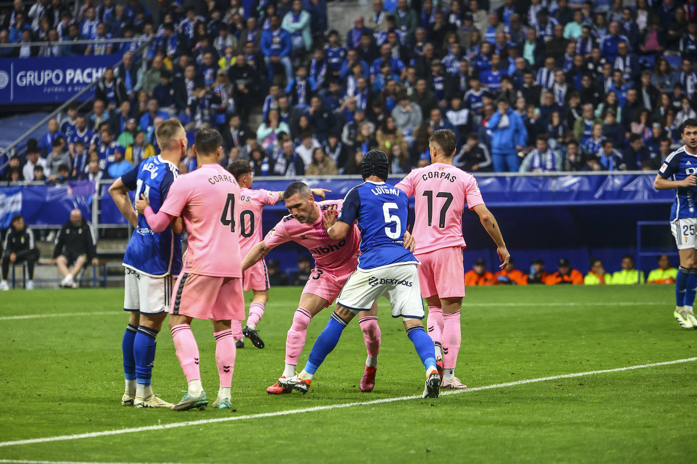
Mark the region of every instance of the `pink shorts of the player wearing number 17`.
<instances>
[{"instance_id":1,"label":"pink shorts of the player wearing number 17","mask_svg":"<svg viewBox=\"0 0 697 464\"><path fill-rule=\"evenodd\" d=\"M465 269L462 263L462 248L452 246L423 255L415 255L419 266L421 296L438 295L440 298L465 296Z\"/></svg>"}]
</instances>

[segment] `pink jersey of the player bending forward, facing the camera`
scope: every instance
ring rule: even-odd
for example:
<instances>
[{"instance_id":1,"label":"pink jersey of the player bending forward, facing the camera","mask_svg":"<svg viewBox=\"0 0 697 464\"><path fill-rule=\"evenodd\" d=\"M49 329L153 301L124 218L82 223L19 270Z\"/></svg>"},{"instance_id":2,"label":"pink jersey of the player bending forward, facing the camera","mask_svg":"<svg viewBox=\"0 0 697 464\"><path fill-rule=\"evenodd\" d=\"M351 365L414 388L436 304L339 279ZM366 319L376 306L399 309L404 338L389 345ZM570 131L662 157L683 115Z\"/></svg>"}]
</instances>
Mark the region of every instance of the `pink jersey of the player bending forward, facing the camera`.
<instances>
[{"instance_id":1,"label":"pink jersey of the player bending forward, facing the camera","mask_svg":"<svg viewBox=\"0 0 697 464\"><path fill-rule=\"evenodd\" d=\"M266 234L263 241L268 248L274 248L281 243L286 243L286 241L294 241L312 253L317 268L337 276L352 273L358 266L360 253L358 227L353 225L342 240L330 239L327 231L322 227L322 216L325 209L337 205L338 212L341 211L343 203L344 200L316 202L320 216L312 224L303 224L293 216L286 216Z\"/></svg>"}]
</instances>

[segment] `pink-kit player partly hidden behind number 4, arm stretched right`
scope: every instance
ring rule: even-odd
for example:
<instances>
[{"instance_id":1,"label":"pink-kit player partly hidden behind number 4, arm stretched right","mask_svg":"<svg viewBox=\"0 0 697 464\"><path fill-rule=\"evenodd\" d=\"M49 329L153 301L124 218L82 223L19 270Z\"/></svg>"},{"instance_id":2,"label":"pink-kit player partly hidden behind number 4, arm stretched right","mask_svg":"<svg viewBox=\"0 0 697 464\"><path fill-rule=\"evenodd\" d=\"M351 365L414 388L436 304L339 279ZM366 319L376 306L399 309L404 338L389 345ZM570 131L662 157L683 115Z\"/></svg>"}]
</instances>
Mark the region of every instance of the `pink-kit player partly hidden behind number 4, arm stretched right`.
<instances>
[{"instance_id":1,"label":"pink-kit player partly hidden behind number 4, arm stretched right","mask_svg":"<svg viewBox=\"0 0 697 464\"><path fill-rule=\"evenodd\" d=\"M252 190L254 182L254 169L249 161L238 159L233 161L227 170L235 177L240 185L240 255L246 256L252 247L263 239L261 233L261 211L266 205L275 205L283 201L283 192L274 192L264 189ZM330 190L311 189L313 195L324 200L325 192ZM252 290L254 297L250 304L250 315L247 317L245 328L241 321L232 321L232 335L236 340L237 348L244 348L243 335L252 341L256 348L263 348L263 340L256 331L256 324L263 316L266 302L268 301L268 271L266 261L260 259L254 266L247 269L242 277L244 291Z\"/></svg>"}]
</instances>

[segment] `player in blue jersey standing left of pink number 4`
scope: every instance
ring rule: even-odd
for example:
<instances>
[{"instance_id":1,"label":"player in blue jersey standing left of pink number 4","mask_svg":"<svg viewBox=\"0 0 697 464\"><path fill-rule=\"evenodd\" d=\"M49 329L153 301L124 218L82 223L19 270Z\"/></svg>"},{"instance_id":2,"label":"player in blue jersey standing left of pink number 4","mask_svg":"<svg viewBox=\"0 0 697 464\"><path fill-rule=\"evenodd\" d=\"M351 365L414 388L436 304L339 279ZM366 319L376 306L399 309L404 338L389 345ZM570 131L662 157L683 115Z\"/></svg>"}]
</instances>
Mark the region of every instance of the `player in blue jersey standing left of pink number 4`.
<instances>
[{"instance_id":1,"label":"player in blue jersey standing left of pink number 4","mask_svg":"<svg viewBox=\"0 0 697 464\"><path fill-rule=\"evenodd\" d=\"M125 296L123 310L130 312L123 334L123 406L171 408L153 394L151 377L155 362L155 337L167 317L172 292L172 277L181 271L181 219L164 232L153 232L145 216L137 215L128 196L145 195L155 211L167 198L169 186L179 175L177 163L186 153L186 133L176 119L161 122L155 137L162 152L141 161L139 166L116 179L109 187L114 203L135 231L123 256Z\"/></svg>"}]
</instances>

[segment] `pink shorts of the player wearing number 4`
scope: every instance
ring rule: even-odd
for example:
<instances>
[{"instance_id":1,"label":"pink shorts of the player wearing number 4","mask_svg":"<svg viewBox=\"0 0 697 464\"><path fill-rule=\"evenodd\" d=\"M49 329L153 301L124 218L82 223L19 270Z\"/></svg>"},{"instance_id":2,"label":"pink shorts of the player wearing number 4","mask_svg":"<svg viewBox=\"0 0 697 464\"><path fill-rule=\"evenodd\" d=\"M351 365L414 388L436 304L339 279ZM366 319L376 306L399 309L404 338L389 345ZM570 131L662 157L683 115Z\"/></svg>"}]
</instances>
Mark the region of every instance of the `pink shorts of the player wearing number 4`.
<instances>
[{"instance_id":1,"label":"pink shorts of the player wearing number 4","mask_svg":"<svg viewBox=\"0 0 697 464\"><path fill-rule=\"evenodd\" d=\"M174 285L169 314L214 321L241 321L245 319L242 279L181 273Z\"/></svg>"}]
</instances>

